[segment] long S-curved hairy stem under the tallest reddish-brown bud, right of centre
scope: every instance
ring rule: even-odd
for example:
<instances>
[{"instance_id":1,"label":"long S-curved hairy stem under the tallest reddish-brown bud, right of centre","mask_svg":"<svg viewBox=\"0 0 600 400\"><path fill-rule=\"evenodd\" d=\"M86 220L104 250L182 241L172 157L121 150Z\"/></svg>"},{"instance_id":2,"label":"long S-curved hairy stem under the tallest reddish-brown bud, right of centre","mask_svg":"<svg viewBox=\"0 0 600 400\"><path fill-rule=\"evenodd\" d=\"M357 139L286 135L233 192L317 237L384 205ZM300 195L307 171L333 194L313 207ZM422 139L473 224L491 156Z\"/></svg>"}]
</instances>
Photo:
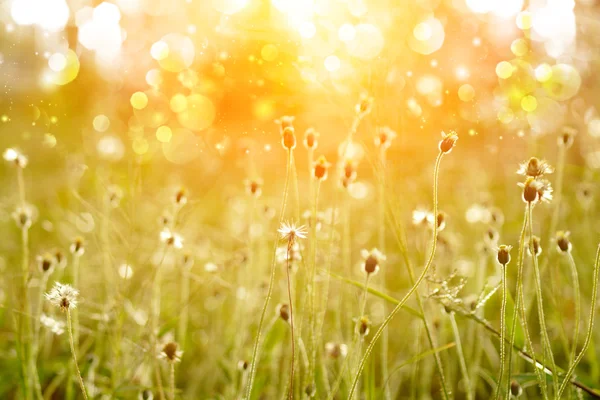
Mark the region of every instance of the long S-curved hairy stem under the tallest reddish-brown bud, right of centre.
<instances>
[{"instance_id":1,"label":"long S-curved hairy stem under the tallest reddish-brown bud, right of centre","mask_svg":"<svg viewBox=\"0 0 600 400\"><path fill-rule=\"evenodd\" d=\"M433 172L433 215L437 215L437 213L438 213L438 199L437 199L438 175L439 175L440 163L442 161L443 155L444 155L444 153L441 151L438 153L438 156L435 161L434 172ZM352 386L350 388L350 394L348 395L349 399L352 399L354 396L354 392L356 391L356 386L358 384L360 374L365 367L367 359L373 352L373 348L375 347L377 340L379 339L379 337L381 337L383 330L391 322L391 320L394 318L394 316L396 316L398 311L400 311L402 309L402 306L408 301L408 299L413 295L413 293L415 293L415 291L417 290L417 288L419 287L421 282L423 282L423 279L425 279L425 276L429 272L429 268L433 264L433 259L435 257L435 250L436 250L436 246L437 246L437 233L438 233L437 224L434 223L433 224L431 251L429 254L429 259L427 260L427 263L425 264L425 268L423 268L423 271L421 272L421 275L419 276L419 278L417 279L415 284L410 288L408 293L406 293L406 295L404 295L404 297L402 298L402 300L400 300L400 302L396 305L396 307L394 307L392 312L386 317L386 319L380 325L379 329L377 329L377 332L375 332L375 335L373 335L373 339L371 339L371 342L369 343L369 346L367 347L365 354L362 357L362 360L360 361L360 364L358 366L358 371L356 372L356 375L354 376L354 380L353 380ZM443 388L444 388L444 398L449 399L449 395L448 395L448 392L447 392L445 386Z\"/></svg>"}]
</instances>

